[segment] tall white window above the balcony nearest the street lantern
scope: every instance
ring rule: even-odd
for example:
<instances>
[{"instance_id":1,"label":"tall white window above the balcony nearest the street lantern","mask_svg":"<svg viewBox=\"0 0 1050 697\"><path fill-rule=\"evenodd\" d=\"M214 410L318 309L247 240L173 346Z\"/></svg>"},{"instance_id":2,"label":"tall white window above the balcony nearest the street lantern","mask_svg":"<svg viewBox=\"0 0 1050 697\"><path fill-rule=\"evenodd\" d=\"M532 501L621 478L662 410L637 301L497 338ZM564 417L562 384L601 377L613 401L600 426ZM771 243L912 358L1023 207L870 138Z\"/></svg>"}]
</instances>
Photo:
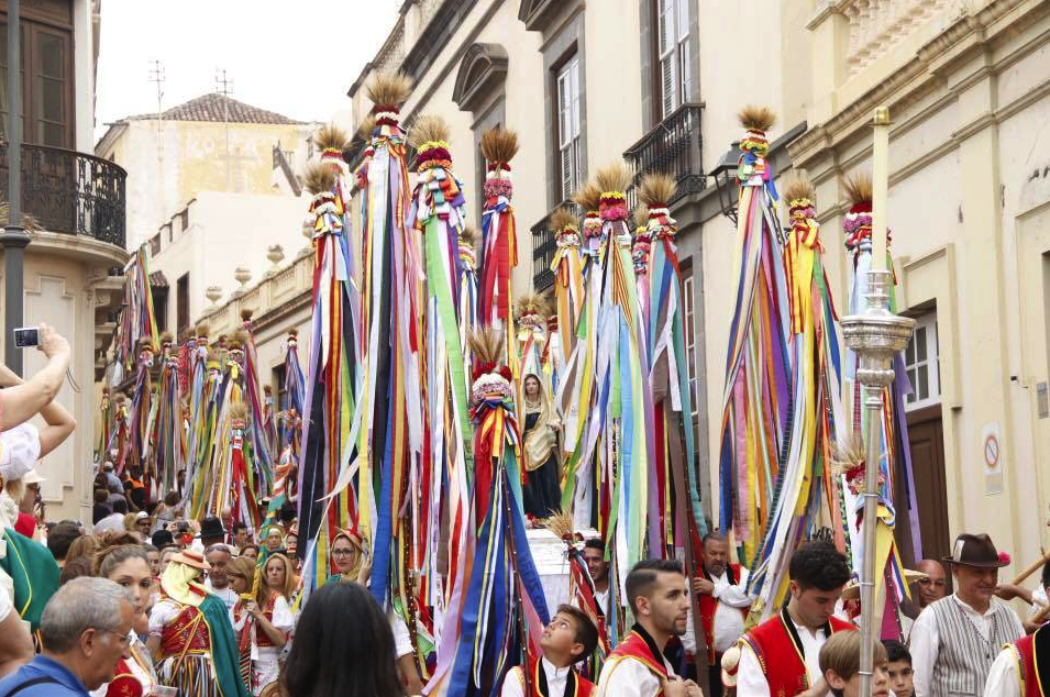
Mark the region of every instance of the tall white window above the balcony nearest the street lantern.
<instances>
[{"instance_id":1,"label":"tall white window above the balcony nearest the street lantern","mask_svg":"<svg viewBox=\"0 0 1050 697\"><path fill-rule=\"evenodd\" d=\"M660 118L689 101L693 60L689 54L689 0L654 0Z\"/></svg>"}]
</instances>

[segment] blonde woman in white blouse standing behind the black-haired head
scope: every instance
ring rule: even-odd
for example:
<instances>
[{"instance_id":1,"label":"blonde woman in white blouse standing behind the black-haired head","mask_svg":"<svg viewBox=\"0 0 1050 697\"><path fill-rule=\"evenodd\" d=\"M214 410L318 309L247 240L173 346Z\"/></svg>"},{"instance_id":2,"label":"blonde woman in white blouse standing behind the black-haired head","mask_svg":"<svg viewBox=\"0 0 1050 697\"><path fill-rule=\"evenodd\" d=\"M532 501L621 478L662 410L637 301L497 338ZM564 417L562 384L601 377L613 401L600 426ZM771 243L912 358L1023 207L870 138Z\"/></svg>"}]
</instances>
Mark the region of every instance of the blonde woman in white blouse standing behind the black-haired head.
<instances>
[{"instance_id":1,"label":"blonde woman in white blouse standing behind the black-haired head","mask_svg":"<svg viewBox=\"0 0 1050 697\"><path fill-rule=\"evenodd\" d=\"M235 568L243 565L240 558ZM255 597L243 599L242 594L242 600L233 606L233 629L242 656L247 649L252 657L250 675L244 674L242 660L242 677L247 678L248 689L258 696L263 688L277 681L280 651L295 628L295 616L288 600L295 589L296 576L291 562L279 552L270 554L256 573L261 576Z\"/></svg>"}]
</instances>

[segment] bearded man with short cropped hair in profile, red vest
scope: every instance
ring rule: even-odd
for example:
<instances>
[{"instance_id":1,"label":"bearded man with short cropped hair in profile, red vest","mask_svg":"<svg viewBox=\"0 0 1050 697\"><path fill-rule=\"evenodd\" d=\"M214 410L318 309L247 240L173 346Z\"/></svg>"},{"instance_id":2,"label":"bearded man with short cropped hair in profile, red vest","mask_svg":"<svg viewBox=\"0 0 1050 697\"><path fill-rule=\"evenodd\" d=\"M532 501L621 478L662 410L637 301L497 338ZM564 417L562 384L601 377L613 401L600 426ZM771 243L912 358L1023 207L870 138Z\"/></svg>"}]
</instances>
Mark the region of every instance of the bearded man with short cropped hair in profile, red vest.
<instances>
[{"instance_id":1,"label":"bearded man with short cropped hair in profile, red vest","mask_svg":"<svg viewBox=\"0 0 1050 697\"><path fill-rule=\"evenodd\" d=\"M703 697L696 683L675 675L663 655L667 641L685 633L689 617L682 564L641 561L625 585L637 622L606 660L598 697Z\"/></svg>"}]
</instances>

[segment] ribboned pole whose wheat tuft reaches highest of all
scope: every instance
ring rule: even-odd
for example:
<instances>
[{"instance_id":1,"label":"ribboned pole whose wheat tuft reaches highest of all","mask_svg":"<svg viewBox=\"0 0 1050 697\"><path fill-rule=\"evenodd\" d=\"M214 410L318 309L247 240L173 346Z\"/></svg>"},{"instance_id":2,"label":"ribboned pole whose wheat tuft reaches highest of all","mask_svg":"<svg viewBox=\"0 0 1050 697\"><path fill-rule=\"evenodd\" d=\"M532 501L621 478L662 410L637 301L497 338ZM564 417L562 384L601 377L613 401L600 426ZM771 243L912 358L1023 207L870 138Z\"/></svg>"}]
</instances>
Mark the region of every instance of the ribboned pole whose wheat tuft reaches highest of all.
<instances>
[{"instance_id":1,"label":"ribboned pole whose wheat tuft reaches highest of all","mask_svg":"<svg viewBox=\"0 0 1050 697\"><path fill-rule=\"evenodd\" d=\"M423 443L424 385L420 381L423 277L418 242L409 229L406 136L400 104L411 82L402 74L378 75L367 87L376 118L373 155L364 166L362 192L364 269L364 388L358 440L360 530L374 549L369 583L385 607L405 593L408 571L401 563L410 541L401 516L413 457ZM352 472L354 468L347 468ZM342 480L340 482L340 485ZM411 618L409 618L411 619ZM411 627L410 627L411 628Z\"/></svg>"}]
</instances>

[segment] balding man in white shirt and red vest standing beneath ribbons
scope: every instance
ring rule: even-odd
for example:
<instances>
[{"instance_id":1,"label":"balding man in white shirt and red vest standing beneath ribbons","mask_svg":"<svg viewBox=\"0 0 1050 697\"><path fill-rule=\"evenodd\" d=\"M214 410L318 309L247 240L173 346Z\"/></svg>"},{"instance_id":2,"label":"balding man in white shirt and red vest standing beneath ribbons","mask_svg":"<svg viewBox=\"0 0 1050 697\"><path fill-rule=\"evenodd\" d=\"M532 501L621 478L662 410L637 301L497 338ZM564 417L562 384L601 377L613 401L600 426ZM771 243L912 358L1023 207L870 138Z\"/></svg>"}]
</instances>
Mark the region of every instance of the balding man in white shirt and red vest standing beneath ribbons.
<instances>
[{"instance_id":1,"label":"balding man in white shirt and red vest standing beneath ribbons","mask_svg":"<svg viewBox=\"0 0 1050 697\"><path fill-rule=\"evenodd\" d=\"M748 569L729 563L729 542L720 532L707 533L700 542L700 552L704 566L693 578L693 593L699 598L707 660L699 656L694 661L696 670L704 670L707 665L708 697L722 697L722 654L743 634L743 622L752 598L745 590ZM682 638L687 659L697 651L693 632L690 612L689 628Z\"/></svg>"}]
</instances>

